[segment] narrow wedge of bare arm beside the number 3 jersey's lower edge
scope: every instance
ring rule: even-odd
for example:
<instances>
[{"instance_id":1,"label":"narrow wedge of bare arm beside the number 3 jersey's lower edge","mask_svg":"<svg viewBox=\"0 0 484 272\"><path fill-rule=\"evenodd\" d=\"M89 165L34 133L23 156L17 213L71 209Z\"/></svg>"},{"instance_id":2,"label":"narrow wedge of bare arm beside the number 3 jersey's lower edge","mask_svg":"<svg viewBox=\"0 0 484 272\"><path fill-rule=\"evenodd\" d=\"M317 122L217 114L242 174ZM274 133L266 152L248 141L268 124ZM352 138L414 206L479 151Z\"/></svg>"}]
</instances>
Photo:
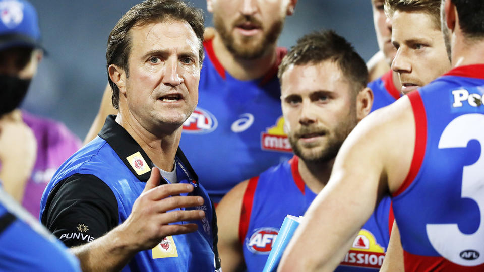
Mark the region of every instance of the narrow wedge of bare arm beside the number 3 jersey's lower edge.
<instances>
[{"instance_id":1,"label":"narrow wedge of bare arm beside the number 3 jersey's lower edge","mask_svg":"<svg viewBox=\"0 0 484 272\"><path fill-rule=\"evenodd\" d=\"M400 231L398 230L397 223L393 222L392 234L390 235L390 242L388 243L388 249L385 253L385 260L383 261L380 272L398 272L405 271L403 264L403 248L400 241Z\"/></svg>"}]
</instances>

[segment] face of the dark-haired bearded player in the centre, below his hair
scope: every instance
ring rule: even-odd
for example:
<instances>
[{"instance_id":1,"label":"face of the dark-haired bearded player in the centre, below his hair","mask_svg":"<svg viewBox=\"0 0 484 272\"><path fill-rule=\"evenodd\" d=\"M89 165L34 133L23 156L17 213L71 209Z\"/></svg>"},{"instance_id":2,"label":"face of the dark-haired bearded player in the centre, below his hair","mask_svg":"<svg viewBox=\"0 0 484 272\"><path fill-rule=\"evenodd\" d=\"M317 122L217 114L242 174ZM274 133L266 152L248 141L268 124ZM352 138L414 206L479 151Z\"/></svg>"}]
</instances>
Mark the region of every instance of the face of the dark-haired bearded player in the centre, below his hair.
<instances>
[{"instance_id":1,"label":"face of the dark-haired bearded player in the centre, below his hair","mask_svg":"<svg viewBox=\"0 0 484 272\"><path fill-rule=\"evenodd\" d=\"M328 161L357 123L356 94L333 61L290 65L282 75L281 103L294 153Z\"/></svg>"}]
</instances>

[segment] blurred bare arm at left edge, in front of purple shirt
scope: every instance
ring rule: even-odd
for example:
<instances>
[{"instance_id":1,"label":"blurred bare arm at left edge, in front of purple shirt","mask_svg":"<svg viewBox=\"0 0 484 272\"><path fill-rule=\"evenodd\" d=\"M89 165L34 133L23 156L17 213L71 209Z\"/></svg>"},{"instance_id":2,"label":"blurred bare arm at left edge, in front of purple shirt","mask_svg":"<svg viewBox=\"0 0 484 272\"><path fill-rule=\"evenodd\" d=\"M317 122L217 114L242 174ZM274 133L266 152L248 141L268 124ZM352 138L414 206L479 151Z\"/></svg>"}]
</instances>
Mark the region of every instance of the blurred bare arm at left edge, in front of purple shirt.
<instances>
[{"instance_id":1,"label":"blurred bare arm at left edge, in front of purple shirt","mask_svg":"<svg viewBox=\"0 0 484 272\"><path fill-rule=\"evenodd\" d=\"M15 199L22 199L25 183L37 158L35 135L22 120L20 111L0 118L0 178Z\"/></svg>"}]
</instances>

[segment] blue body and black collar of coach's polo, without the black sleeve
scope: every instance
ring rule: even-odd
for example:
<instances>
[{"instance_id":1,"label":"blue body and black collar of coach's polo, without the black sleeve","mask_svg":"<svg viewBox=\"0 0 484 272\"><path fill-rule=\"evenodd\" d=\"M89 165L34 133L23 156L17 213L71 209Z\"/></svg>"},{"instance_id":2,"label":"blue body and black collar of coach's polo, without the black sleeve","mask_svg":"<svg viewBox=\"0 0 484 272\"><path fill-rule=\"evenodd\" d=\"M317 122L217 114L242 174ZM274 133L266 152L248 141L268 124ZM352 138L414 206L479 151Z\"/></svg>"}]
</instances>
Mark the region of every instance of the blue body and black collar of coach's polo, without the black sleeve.
<instances>
[{"instance_id":1,"label":"blue body and black collar of coach's polo, without the black sleeve","mask_svg":"<svg viewBox=\"0 0 484 272\"><path fill-rule=\"evenodd\" d=\"M105 139L101 138L103 136ZM120 140L124 139L124 141ZM125 158L118 154L132 154ZM151 250L138 252L123 268L123 271L215 271L213 251L212 205L208 194L182 163L179 150L175 157L178 183L190 183L194 190L189 195L204 198L204 205L197 207L205 211L205 218L190 223L198 225L197 231L164 238ZM117 200L119 224L131 214L133 204L142 193L150 177L153 163L110 115L99 135L69 158L54 174L42 196L40 218L45 210L47 197L54 186L76 173L94 175L109 186ZM186 195L186 194L184 194ZM186 208L194 209L194 208ZM142 224L142 223L140 223ZM177 222L173 224L183 224Z\"/></svg>"}]
</instances>

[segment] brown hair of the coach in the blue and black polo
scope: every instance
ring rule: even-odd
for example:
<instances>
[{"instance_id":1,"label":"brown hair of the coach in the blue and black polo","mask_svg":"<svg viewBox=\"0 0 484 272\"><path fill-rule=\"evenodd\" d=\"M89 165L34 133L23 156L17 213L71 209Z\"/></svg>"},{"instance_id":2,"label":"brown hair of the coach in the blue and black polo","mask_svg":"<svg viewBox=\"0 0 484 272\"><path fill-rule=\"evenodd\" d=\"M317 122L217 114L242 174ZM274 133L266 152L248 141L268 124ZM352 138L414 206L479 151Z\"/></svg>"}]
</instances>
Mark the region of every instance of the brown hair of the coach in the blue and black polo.
<instances>
[{"instance_id":1,"label":"brown hair of the coach in the blue and black polo","mask_svg":"<svg viewBox=\"0 0 484 272\"><path fill-rule=\"evenodd\" d=\"M114 108L119 107L119 88L109 77L109 65L119 66L129 77L128 57L132 41L130 30L135 26L163 22L165 20L186 21L190 24L199 41L199 64L203 61L203 12L181 0L146 0L132 7L114 26L107 41L106 60L108 81L112 89L111 102Z\"/></svg>"}]
</instances>

